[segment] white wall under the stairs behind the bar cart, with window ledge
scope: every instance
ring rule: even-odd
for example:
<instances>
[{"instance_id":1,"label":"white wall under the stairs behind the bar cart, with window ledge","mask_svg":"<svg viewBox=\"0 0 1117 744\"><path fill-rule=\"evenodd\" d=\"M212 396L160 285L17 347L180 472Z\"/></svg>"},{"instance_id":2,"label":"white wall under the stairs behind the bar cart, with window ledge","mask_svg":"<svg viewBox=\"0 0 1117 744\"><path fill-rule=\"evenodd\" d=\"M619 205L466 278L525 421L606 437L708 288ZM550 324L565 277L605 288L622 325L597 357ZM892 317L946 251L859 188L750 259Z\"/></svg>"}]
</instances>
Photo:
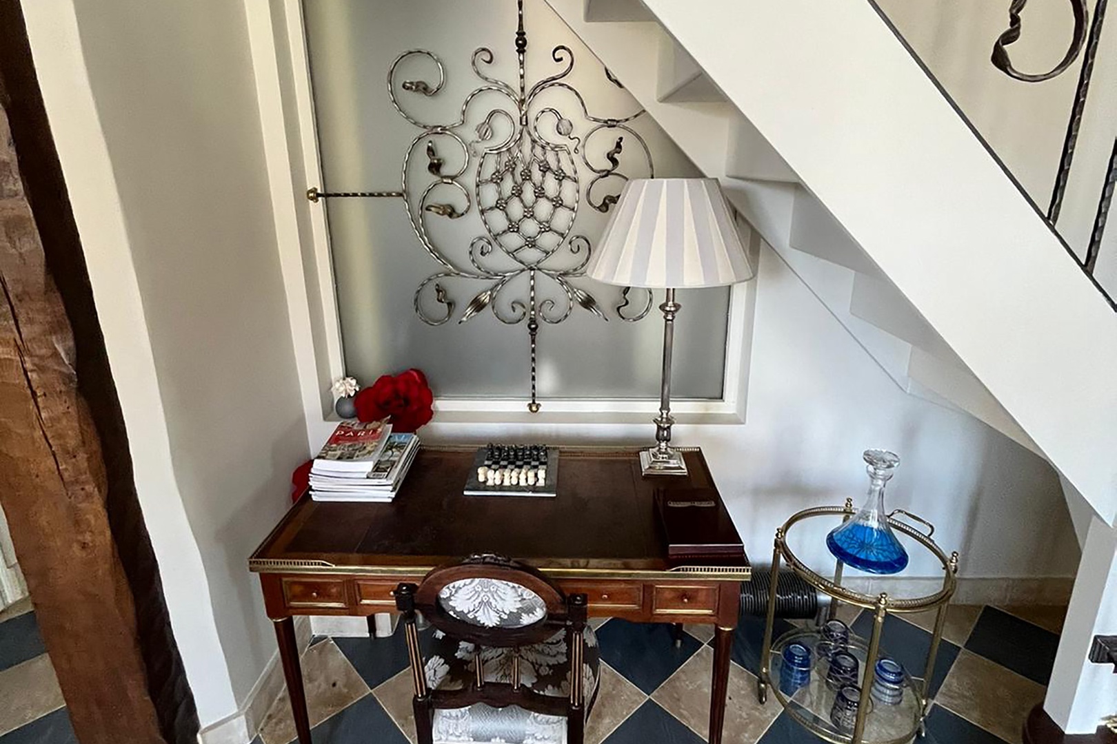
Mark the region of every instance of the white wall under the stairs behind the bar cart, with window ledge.
<instances>
[{"instance_id":1,"label":"white wall under the stairs behind the bar cart, with window ledge","mask_svg":"<svg viewBox=\"0 0 1117 744\"><path fill-rule=\"evenodd\" d=\"M675 427L674 441L700 445L750 555L771 561L775 528L793 512L860 505L868 480L861 452L901 456L886 505L938 528L944 550L962 553L966 578L1071 577L1078 542L1054 471L973 417L904 394L768 248L761 253L756 321L744 425ZM649 364L655 364L649 359ZM649 402L649 417L655 405ZM542 437L555 442L648 443L653 427L462 425L435 422L427 439ZM796 542L828 566L824 532ZM906 576L941 577L913 553Z\"/></svg>"}]
</instances>

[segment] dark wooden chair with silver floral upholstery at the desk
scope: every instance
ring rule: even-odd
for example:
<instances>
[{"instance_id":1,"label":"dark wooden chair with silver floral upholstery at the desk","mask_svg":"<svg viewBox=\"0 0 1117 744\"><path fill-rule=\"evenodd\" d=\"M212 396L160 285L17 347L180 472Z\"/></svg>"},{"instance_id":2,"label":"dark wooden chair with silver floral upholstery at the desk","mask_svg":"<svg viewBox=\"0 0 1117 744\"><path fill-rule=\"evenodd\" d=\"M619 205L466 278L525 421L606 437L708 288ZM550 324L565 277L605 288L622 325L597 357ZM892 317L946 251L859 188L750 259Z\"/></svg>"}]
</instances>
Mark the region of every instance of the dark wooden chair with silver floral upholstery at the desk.
<instances>
[{"instance_id":1,"label":"dark wooden chair with silver floral upholstery at the desk","mask_svg":"<svg viewBox=\"0 0 1117 744\"><path fill-rule=\"evenodd\" d=\"M585 595L498 555L401 583L419 744L582 744L596 699L598 642ZM416 611L433 626L427 658ZM576 670L572 674L571 670Z\"/></svg>"}]
</instances>

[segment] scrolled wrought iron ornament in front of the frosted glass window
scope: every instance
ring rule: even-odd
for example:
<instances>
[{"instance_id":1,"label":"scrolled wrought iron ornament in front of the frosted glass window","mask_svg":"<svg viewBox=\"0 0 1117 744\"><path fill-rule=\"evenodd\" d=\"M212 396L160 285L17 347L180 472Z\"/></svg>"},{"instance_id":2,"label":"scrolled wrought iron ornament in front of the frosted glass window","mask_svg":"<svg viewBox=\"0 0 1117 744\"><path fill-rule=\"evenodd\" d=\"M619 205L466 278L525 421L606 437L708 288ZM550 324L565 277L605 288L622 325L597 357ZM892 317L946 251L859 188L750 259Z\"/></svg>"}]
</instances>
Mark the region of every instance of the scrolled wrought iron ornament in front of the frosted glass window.
<instances>
[{"instance_id":1,"label":"scrolled wrought iron ornament in front of the frosted glass window","mask_svg":"<svg viewBox=\"0 0 1117 744\"><path fill-rule=\"evenodd\" d=\"M574 224L583 200L602 213L617 203L620 187L628 180L621 171L626 147L637 153L648 176L655 175L655 168L647 143L630 126L645 114L643 109L621 118L593 116L581 93L564 81L574 69L574 52L569 47L560 45L551 51L551 59L562 66L556 74L528 86L523 0L517 0L516 7L518 80L509 84L489 76L486 68L496 57L491 49L478 48L472 54L471 67L481 85L464 98L456 118L426 122L407 109L409 98L433 98L442 91L446 69L437 55L411 49L392 62L388 71L389 100L400 116L420 129L403 156L400 191L331 193L311 189L307 197L315 202L328 197L402 197L416 236L440 265L416 289L416 315L428 325L439 326L454 318L464 323L488 309L505 325L526 323L531 355L527 408L535 413L541 407L536 352L543 323L562 322L575 307L602 320L608 320L612 312L628 322L640 320L651 309L650 290L626 288L622 301L610 311L575 283L584 276L592 247L585 235L574 232ZM399 79L403 67L416 62L430 66L429 77L411 75ZM619 85L608 71L607 76ZM577 116L556 107L554 99L563 96L576 104ZM495 98L500 106L481 108L484 114L470 131L467 120L481 98ZM603 162L591 160L589 153L591 143L599 141L609 146ZM417 155L417 151L421 154ZM423 183L414 183L412 157L426 158L428 177ZM448 162L460 165L449 167ZM585 170L588 181L583 181L580 167ZM458 220L474 211L485 233L469 240L468 249L458 251L466 258L456 260L452 252L432 239L428 220ZM465 302L460 315L458 302L450 298L446 286L458 280L474 283L471 291L476 292ZM541 299L543 282L557 300ZM517 290L516 297L504 297L523 283L526 287ZM641 292L641 301L631 300L631 291Z\"/></svg>"}]
</instances>

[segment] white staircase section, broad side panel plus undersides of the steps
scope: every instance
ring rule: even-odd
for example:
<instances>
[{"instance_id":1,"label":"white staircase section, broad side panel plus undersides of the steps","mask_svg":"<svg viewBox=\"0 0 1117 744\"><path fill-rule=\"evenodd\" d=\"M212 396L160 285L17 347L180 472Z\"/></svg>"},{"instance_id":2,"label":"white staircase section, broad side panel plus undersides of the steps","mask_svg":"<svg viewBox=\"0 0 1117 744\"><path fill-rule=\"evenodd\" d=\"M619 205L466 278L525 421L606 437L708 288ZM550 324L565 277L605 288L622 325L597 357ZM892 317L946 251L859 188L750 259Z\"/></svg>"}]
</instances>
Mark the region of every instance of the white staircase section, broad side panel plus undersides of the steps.
<instances>
[{"instance_id":1,"label":"white staircase section, broad side panel plus undersides of the steps","mask_svg":"<svg viewBox=\"0 0 1117 744\"><path fill-rule=\"evenodd\" d=\"M546 2L901 389L1114 522L1117 316L868 2Z\"/></svg>"}]
</instances>

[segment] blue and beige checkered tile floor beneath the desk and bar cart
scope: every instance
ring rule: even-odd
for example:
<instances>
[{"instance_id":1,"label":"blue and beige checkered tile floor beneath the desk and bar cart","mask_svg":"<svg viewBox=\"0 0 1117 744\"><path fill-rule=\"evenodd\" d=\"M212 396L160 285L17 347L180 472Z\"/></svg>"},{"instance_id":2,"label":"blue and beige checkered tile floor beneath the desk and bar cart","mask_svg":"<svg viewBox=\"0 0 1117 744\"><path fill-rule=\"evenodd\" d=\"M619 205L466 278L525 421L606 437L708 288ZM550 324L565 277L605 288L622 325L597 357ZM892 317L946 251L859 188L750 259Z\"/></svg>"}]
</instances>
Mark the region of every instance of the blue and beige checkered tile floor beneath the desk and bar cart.
<instances>
[{"instance_id":1,"label":"blue and beige checkered tile floor beneath the desk and bar cart","mask_svg":"<svg viewBox=\"0 0 1117 744\"><path fill-rule=\"evenodd\" d=\"M933 677L935 706L927 721L930 744L1019 743L1028 712L1043 699L1065 608L952 607ZM843 613L868 636L870 618ZM933 617L889 617L885 650L922 670ZM789 629L781 622L777 632ZM590 717L589 744L698 744L707 734L712 631L687 628L681 648L671 627L609 620L598 628L604 663L602 687ZM763 621L744 619L733 645L726 744L820 742L782 714L770 696L756 702ZM414 742L411 683L401 634L385 639L318 638L306 651L315 744ZM281 696L257 744L286 744L294 726ZM0 737L0 744L9 744Z\"/></svg>"}]
</instances>

